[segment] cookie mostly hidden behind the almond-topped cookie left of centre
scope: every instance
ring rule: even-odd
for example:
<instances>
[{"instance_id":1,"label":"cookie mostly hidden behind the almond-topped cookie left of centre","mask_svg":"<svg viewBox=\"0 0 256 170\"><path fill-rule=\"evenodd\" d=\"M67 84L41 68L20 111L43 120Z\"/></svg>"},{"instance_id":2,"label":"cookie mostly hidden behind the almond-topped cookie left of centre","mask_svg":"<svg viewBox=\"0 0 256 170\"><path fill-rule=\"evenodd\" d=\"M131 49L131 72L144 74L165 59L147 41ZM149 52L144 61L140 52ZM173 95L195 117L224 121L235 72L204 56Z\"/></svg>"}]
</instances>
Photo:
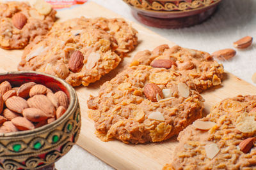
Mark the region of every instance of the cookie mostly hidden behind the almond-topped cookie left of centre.
<instances>
[{"instance_id":1,"label":"cookie mostly hidden behind the almond-topped cookie left of centre","mask_svg":"<svg viewBox=\"0 0 256 170\"><path fill-rule=\"evenodd\" d=\"M73 34L79 34L88 25L93 25L95 28L113 35L118 45L116 52L119 54L131 52L138 43L136 36L138 32L122 18L76 18L56 23L49 34L56 35L63 31L72 31Z\"/></svg>"}]
</instances>

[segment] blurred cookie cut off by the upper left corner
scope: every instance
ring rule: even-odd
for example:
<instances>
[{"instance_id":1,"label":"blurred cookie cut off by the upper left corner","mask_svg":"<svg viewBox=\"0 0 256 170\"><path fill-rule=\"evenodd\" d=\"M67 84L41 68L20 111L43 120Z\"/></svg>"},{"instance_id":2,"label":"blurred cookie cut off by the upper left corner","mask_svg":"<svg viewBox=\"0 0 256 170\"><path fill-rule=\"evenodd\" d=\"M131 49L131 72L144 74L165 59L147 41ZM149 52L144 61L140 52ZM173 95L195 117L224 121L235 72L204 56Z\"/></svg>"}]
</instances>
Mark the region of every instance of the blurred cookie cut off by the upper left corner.
<instances>
[{"instance_id":1,"label":"blurred cookie cut off by the upper left corner","mask_svg":"<svg viewBox=\"0 0 256 170\"><path fill-rule=\"evenodd\" d=\"M45 35L55 21L56 11L43 0L34 8L23 2L0 3L0 46L21 49L38 35Z\"/></svg>"}]
</instances>

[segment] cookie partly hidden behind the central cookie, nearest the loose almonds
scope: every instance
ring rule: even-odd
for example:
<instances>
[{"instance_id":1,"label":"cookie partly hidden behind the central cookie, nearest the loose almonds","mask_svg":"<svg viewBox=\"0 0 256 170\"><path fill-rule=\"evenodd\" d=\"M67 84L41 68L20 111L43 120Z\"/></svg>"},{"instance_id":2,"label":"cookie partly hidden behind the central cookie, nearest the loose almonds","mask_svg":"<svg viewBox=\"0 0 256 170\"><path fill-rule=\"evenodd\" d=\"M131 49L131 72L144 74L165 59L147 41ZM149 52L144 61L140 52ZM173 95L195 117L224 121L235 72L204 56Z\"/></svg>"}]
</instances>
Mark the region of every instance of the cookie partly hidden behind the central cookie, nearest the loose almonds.
<instances>
[{"instance_id":1,"label":"cookie partly hidden behind the central cookie, nearest the loose almonds","mask_svg":"<svg viewBox=\"0 0 256 170\"><path fill-rule=\"evenodd\" d=\"M193 79L196 87L191 88L196 88L198 92L219 85L224 72L222 64L218 64L216 60L212 59L209 53L180 46L169 48L168 45L160 45L152 52L149 50L138 52L132 61L132 65L138 64L156 67L163 67L163 64L167 64L167 67L179 70L179 73Z\"/></svg>"}]
</instances>

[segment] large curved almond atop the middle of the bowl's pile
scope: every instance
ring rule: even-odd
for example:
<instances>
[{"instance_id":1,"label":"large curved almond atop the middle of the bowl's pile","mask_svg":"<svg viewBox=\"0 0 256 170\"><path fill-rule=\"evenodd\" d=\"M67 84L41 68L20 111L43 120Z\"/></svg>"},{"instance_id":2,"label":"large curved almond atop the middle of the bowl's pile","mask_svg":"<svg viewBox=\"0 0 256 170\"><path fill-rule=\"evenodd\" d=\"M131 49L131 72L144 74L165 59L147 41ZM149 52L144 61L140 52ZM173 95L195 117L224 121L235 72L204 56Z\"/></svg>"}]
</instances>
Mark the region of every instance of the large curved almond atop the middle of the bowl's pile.
<instances>
[{"instance_id":1,"label":"large curved almond atop the middle of the bowl's pile","mask_svg":"<svg viewBox=\"0 0 256 170\"><path fill-rule=\"evenodd\" d=\"M37 108L44 111L48 117L54 117L56 113L56 110L51 101L48 99L48 97L42 94L30 97L28 99L28 106L30 108Z\"/></svg>"}]
</instances>

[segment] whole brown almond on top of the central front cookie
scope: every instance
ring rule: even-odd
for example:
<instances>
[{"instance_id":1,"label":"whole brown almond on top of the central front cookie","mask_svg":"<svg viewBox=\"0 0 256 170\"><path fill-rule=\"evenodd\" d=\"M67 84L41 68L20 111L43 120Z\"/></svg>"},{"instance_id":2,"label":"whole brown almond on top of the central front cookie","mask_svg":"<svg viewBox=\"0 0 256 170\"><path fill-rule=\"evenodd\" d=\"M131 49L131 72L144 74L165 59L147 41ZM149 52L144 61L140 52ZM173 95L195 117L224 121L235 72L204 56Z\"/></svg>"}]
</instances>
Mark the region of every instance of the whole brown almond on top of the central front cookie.
<instances>
[{"instance_id":1,"label":"whole brown almond on top of the central front cookie","mask_svg":"<svg viewBox=\"0 0 256 170\"><path fill-rule=\"evenodd\" d=\"M157 85L153 84L153 83L147 83L147 85L145 85L144 87L144 94L145 96L150 99L150 101L157 101L157 94L159 94L159 96L161 98L163 98L163 92L160 89L160 87L158 87Z\"/></svg>"}]
</instances>

